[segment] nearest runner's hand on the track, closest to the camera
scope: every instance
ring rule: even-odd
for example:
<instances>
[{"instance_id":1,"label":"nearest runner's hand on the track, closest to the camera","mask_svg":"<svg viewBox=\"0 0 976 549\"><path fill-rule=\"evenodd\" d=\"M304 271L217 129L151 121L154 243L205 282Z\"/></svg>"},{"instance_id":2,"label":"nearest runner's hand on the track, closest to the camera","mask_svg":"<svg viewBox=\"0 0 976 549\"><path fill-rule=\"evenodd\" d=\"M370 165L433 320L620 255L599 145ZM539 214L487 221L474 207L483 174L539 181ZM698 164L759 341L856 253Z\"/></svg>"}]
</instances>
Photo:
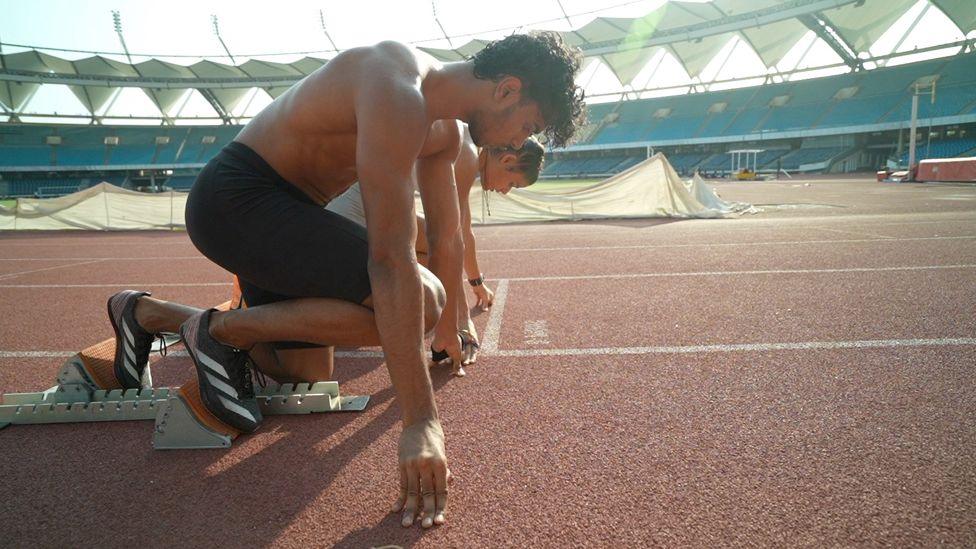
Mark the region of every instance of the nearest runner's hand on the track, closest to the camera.
<instances>
[{"instance_id":1,"label":"nearest runner's hand on the track, closest to the camera","mask_svg":"<svg viewBox=\"0 0 976 549\"><path fill-rule=\"evenodd\" d=\"M451 471L444 453L444 431L427 418L404 427L400 434L400 497L393 512L403 511L404 528L418 518L423 528L444 524L447 484Z\"/></svg>"}]
</instances>

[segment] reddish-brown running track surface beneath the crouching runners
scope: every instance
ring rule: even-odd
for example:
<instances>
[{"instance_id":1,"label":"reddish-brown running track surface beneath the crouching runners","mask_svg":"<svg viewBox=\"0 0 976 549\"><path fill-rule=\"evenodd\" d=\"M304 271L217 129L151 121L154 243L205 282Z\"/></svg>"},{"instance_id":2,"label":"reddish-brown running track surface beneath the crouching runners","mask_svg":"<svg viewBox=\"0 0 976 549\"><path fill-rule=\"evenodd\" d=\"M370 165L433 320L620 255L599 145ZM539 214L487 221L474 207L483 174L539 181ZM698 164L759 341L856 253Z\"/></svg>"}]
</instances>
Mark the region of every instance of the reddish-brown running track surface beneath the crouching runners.
<instances>
[{"instance_id":1,"label":"reddish-brown running track surface beneath the crouching runners","mask_svg":"<svg viewBox=\"0 0 976 549\"><path fill-rule=\"evenodd\" d=\"M445 526L387 512L399 413L382 359L347 356L365 412L269 417L229 451L155 452L149 422L0 430L0 545L976 544L976 188L719 188L779 206L476 229L504 303L467 377L433 371ZM0 235L0 391L52 385L126 287L229 292L180 233Z\"/></svg>"}]
</instances>

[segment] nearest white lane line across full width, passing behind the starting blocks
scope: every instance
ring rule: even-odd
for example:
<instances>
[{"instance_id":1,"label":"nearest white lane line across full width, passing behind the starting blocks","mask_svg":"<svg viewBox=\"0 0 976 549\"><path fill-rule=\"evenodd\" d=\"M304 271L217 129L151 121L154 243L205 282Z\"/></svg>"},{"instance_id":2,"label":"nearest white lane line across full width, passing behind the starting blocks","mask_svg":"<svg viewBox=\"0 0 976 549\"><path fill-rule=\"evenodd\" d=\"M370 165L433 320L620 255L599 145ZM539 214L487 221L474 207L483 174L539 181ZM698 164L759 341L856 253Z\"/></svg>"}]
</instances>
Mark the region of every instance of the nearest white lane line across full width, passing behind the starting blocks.
<instances>
[{"instance_id":1,"label":"nearest white lane line across full width, passing behind the starting blocks","mask_svg":"<svg viewBox=\"0 0 976 549\"><path fill-rule=\"evenodd\" d=\"M498 294L495 294L496 307ZM500 324L500 322L499 322ZM598 347L579 349L501 349L489 352L482 346L482 355L498 357L534 356L595 356L648 354L701 354L756 351L809 351L830 349L886 349L898 347L954 347L976 345L973 337L943 337L931 339L868 339L853 341L799 341L794 343L730 343L720 345L665 345L657 347ZM71 351L0 351L0 358L67 358ZM187 356L186 351L174 351L168 356ZM340 351L338 358L382 358L380 351Z\"/></svg>"}]
</instances>

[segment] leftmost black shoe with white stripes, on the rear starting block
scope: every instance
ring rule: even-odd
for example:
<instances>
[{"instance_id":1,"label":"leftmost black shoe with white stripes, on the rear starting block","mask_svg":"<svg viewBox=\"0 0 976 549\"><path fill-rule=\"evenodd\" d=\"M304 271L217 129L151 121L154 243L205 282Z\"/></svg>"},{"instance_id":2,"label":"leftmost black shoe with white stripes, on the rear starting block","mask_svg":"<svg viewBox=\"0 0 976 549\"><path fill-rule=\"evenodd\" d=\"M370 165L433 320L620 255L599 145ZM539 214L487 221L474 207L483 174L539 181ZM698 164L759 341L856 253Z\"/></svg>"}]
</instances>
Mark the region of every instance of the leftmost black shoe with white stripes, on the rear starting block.
<instances>
[{"instance_id":1,"label":"leftmost black shoe with white stripes, on the rear starting block","mask_svg":"<svg viewBox=\"0 0 976 549\"><path fill-rule=\"evenodd\" d=\"M136 322L136 302L149 292L122 290L108 299L108 319L115 330L113 371L124 389L152 385L149 378L149 350L155 336Z\"/></svg>"}]
</instances>

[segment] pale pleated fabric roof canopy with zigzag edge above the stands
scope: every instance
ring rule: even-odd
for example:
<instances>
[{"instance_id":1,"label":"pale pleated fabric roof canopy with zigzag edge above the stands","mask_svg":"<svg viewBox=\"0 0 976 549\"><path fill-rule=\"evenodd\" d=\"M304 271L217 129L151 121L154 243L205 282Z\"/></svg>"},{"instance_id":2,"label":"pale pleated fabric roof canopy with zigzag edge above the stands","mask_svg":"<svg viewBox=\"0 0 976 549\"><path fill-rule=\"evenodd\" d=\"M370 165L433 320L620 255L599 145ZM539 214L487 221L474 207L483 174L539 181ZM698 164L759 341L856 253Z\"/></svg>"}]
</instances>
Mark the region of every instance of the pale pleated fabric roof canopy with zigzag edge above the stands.
<instances>
[{"instance_id":1,"label":"pale pleated fabric roof canopy with zigzag edge above the stands","mask_svg":"<svg viewBox=\"0 0 976 549\"><path fill-rule=\"evenodd\" d=\"M626 86L661 51L672 55L691 79L733 38L751 47L766 67L775 67L804 37L814 33L850 70L871 57L871 46L918 0L669 0L641 17L597 17L558 31L589 60L599 59ZM976 1L928 0L965 35L976 30ZM928 9L927 6L926 9ZM568 20L568 17L567 17ZM917 20L916 20L917 23ZM906 35L911 29L906 31ZM473 55L487 43L474 39L455 49L421 47L444 61ZM972 48L971 41L965 47ZM168 120L188 90L197 90L220 120L255 88L270 98L327 61L306 57L292 63L250 59L240 65L202 60L189 66L159 59L124 63L96 55L70 61L37 50L0 55L0 108L11 119L43 84L68 86L83 107L98 113L121 88L139 88Z\"/></svg>"}]
</instances>

